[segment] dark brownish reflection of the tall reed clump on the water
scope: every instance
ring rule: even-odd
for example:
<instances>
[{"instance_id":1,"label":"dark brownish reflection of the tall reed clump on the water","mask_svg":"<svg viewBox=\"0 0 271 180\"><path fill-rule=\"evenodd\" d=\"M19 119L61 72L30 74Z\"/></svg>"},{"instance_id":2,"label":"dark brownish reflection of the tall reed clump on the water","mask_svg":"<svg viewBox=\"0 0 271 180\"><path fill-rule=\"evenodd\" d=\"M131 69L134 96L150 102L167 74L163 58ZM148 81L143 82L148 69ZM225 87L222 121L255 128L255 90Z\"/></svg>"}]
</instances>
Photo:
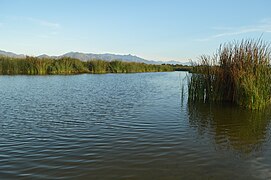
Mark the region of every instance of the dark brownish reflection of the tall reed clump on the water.
<instances>
[{"instance_id":1,"label":"dark brownish reflection of the tall reed clump on the water","mask_svg":"<svg viewBox=\"0 0 271 180\"><path fill-rule=\"evenodd\" d=\"M270 110L248 111L230 104L188 105L189 122L200 135L209 134L218 150L240 155L260 151L268 139Z\"/></svg>"}]
</instances>

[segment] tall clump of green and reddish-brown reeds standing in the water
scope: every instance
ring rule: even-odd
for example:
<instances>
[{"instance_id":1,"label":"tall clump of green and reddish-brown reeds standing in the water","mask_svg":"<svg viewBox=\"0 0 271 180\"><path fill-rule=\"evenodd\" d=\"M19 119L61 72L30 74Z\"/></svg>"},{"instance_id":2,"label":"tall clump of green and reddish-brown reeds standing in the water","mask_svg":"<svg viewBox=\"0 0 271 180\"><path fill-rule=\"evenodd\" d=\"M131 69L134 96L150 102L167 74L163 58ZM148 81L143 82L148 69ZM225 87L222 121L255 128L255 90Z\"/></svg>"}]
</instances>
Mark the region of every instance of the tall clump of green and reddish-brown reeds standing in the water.
<instances>
[{"instance_id":1,"label":"tall clump of green and reddish-brown reeds standing in the water","mask_svg":"<svg viewBox=\"0 0 271 180\"><path fill-rule=\"evenodd\" d=\"M263 109L271 102L270 47L263 40L242 40L201 56L188 76L188 102L230 102Z\"/></svg>"}]
</instances>

